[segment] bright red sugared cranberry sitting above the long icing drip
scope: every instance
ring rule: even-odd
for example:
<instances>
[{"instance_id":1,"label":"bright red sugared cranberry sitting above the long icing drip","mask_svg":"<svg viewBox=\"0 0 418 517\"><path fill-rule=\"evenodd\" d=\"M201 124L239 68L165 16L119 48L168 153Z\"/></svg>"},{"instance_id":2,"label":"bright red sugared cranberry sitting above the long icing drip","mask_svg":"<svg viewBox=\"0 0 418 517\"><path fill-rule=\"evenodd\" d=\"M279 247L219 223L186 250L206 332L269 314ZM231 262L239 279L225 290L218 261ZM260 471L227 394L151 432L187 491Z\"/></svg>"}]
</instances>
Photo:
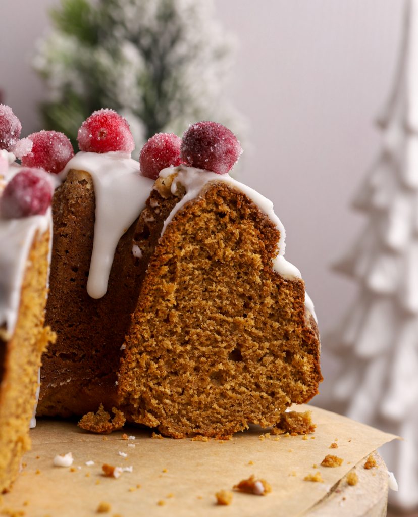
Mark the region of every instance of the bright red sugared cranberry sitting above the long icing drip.
<instances>
[{"instance_id":1,"label":"bright red sugared cranberry sitting above the long icing drip","mask_svg":"<svg viewBox=\"0 0 418 517\"><path fill-rule=\"evenodd\" d=\"M95 111L83 122L77 141L80 150L89 153L132 153L135 148L126 118L107 108Z\"/></svg>"}]
</instances>

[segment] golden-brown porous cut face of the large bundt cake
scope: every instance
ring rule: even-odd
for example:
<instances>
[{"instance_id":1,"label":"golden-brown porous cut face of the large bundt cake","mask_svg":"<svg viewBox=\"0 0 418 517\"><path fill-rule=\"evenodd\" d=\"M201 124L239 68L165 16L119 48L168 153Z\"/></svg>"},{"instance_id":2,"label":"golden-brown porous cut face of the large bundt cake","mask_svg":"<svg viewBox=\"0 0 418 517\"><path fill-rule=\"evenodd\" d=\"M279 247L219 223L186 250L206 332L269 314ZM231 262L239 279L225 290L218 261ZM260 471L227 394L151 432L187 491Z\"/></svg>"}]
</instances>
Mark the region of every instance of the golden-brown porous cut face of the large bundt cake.
<instances>
[{"instance_id":1,"label":"golden-brown porous cut face of the large bundt cake","mask_svg":"<svg viewBox=\"0 0 418 517\"><path fill-rule=\"evenodd\" d=\"M279 232L221 182L179 210L156 246L184 194L170 182L157 180L135 232L155 249L120 367L125 416L178 438L272 425L322 380L304 282L273 271Z\"/></svg>"}]
</instances>

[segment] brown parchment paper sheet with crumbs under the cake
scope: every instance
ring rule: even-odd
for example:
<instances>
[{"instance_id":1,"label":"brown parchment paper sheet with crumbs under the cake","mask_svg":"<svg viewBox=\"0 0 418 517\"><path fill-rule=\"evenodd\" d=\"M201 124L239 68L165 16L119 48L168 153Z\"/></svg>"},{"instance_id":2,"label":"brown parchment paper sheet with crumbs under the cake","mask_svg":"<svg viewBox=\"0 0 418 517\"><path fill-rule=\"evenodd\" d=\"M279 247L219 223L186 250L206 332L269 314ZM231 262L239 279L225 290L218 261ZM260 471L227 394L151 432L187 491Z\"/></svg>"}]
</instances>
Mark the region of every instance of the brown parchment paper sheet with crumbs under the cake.
<instances>
[{"instance_id":1,"label":"brown parchment paper sheet with crumbs under the cake","mask_svg":"<svg viewBox=\"0 0 418 517\"><path fill-rule=\"evenodd\" d=\"M103 501L111 507L105 515L113 517L292 517L302 515L325 497L367 454L396 438L313 406L292 409L312 410L317 429L307 435L308 439L283 435L260 439L269 430L257 427L224 443L214 439L151 439L152 431L134 427L104 439L81 431L74 422L39 420L30 431L32 451L25 455L23 472L12 491L3 496L0 514L12 509L23 510L30 517L83 517L96 515ZM123 432L136 439L123 440ZM329 448L332 442L338 444L337 449ZM72 468L53 466L56 454L70 451ZM127 453L127 458L119 451ZM326 454L343 458L342 466L321 467ZM95 464L86 466L89 460ZM106 478L103 463L132 465L133 472L118 479ZM323 483L303 480L318 470ZM230 506L215 505L215 492L231 490L251 474L266 479L272 492L266 496L234 492Z\"/></svg>"}]
</instances>

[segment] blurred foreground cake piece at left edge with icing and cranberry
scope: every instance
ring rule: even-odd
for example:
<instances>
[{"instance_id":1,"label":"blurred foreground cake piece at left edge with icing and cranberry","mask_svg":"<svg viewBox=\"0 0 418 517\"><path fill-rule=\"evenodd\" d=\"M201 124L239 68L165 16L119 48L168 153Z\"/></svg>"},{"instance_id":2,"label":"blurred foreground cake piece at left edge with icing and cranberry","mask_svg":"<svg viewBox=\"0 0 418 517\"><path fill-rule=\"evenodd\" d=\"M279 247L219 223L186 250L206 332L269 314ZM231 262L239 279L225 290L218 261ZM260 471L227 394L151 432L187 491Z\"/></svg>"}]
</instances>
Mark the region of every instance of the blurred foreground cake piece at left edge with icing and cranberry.
<instances>
[{"instance_id":1,"label":"blurred foreground cake piece at left edge with icing and cranberry","mask_svg":"<svg viewBox=\"0 0 418 517\"><path fill-rule=\"evenodd\" d=\"M52 181L43 171L8 166L0 151L0 493L30 448L44 328L51 238Z\"/></svg>"}]
</instances>

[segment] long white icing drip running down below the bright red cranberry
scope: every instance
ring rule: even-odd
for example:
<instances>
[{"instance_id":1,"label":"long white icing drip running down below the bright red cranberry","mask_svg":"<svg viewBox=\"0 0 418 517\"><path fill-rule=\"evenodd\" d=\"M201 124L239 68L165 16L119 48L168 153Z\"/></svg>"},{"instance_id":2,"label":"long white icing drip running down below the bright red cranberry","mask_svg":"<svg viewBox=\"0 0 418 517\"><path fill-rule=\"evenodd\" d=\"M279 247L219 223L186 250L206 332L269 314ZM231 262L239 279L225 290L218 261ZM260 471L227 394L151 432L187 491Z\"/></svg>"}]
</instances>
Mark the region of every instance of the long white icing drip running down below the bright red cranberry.
<instances>
[{"instance_id":1,"label":"long white icing drip running down below the bright red cranberry","mask_svg":"<svg viewBox=\"0 0 418 517\"><path fill-rule=\"evenodd\" d=\"M91 298L106 294L107 281L120 237L128 230L142 209L153 180L141 176L139 164L127 153L84 153L81 151L59 174L69 170L88 172L96 196L96 222L87 293Z\"/></svg>"}]
</instances>

